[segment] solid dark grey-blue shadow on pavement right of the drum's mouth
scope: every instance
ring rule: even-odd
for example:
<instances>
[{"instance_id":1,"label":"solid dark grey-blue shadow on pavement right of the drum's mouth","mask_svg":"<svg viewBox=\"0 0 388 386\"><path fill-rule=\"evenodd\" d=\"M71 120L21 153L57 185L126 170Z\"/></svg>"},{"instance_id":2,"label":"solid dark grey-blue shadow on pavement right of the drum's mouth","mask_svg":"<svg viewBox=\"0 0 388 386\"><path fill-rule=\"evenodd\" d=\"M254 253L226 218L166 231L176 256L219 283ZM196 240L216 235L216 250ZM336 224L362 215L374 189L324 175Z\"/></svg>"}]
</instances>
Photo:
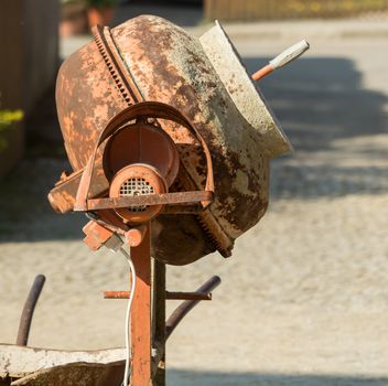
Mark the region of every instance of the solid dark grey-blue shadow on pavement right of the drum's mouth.
<instances>
[{"instance_id":1,"label":"solid dark grey-blue shadow on pavement right of the drum's mouth","mask_svg":"<svg viewBox=\"0 0 388 386\"><path fill-rule=\"evenodd\" d=\"M254 73L269 60L244 63ZM365 89L362 82L354 62L319 57L299 60L267 76L260 87L295 150L314 153L338 139L388 133L384 111L388 96Z\"/></svg>"}]
</instances>

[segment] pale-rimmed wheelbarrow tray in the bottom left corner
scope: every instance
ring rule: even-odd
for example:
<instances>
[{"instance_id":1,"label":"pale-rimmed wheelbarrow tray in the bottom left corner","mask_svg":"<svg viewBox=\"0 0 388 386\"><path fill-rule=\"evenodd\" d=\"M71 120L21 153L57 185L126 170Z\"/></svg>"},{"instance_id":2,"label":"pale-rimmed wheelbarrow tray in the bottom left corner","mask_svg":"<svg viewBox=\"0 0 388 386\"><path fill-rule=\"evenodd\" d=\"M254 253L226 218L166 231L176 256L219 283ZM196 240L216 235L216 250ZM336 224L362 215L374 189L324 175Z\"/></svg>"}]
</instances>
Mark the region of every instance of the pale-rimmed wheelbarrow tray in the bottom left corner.
<instances>
[{"instance_id":1,"label":"pale-rimmed wheelbarrow tray in the bottom left corner","mask_svg":"<svg viewBox=\"0 0 388 386\"><path fill-rule=\"evenodd\" d=\"M0 344L0 385L119 385L123 357L125 349L61 351Z\"/></svg>"}]
</instances>

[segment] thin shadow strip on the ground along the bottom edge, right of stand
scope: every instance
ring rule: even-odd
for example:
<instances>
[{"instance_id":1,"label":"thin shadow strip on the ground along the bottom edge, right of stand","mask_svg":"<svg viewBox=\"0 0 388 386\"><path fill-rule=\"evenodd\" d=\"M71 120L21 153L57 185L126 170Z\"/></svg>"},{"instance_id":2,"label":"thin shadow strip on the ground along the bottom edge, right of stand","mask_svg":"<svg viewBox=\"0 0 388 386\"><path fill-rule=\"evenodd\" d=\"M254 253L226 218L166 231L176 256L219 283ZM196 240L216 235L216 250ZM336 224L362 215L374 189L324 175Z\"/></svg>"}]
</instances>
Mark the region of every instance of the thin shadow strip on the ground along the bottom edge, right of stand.
<instances>
[{"instance_id":1,"label":"thin shadow strip on the ground along the bottom edge, right of stand","mask_svg":"<svg viewBox=\"0 0 388 386\"><path fill-rule=\"evenodd\" d=\"M387 386L388 378L338 375L222 373L168 369L170 385L194 386Z\"/></svg>"}]
</instances>

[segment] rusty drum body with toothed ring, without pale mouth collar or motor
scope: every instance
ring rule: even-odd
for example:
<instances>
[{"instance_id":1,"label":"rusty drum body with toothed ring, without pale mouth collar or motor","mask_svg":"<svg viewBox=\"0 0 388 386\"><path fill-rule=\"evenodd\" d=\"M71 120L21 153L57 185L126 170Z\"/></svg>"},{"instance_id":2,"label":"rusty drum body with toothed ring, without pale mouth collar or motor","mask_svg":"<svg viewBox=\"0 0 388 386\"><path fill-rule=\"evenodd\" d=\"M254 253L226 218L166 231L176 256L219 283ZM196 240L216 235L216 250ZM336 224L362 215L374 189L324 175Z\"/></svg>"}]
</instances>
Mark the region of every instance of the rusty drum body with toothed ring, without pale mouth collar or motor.
<instances>
[{"instance_id":1,"label":"rusty drum body with toothed ring, without pale mouth collar or motor","mask_svg":"<svg viewBox=\"0 0 388 386\"><path fill-rule=\"evenodd\" d=\"M58 117L73 168L86 165L101 130L131 103L104 56L110 49L114 67L126 73L123 78L129 74L130 88L139 90L137 97L182 111L212 152L215 202L201 214L165 214L154 219L153 255L174 265L215 249L230 256L234 239L254 226L268 205L269 158L262 135L236 107L200 42L176 25L147 15L129 20L111 34L100 30L98 36L103 44L96 39L99 45L91 42L73 54L57 81ZM204 186L206 160L195 136L180 124L159 122L177 147L181 185L184 190Z\"/></svg>"}]
</instances>

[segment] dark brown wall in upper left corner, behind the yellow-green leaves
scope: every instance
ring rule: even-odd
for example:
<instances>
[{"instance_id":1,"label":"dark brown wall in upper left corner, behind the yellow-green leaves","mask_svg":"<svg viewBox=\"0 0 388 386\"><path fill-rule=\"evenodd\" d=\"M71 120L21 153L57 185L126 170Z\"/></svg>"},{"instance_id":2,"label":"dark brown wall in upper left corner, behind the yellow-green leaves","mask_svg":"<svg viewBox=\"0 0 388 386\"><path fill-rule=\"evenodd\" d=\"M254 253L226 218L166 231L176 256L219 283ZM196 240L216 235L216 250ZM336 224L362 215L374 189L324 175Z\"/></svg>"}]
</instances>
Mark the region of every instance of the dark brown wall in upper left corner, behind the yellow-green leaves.
<instances>
[{"instance_id":1,"label":"dark brown wall in upper left corner, behind the yellow-green leaves","mask_svg":"<svg viewBox=\"0 0 388 386\"><path fill-rule=\"evenodd\" d=\"M55 81L58 65L58 0L1 0L0 108L28 116ZM24 125L7 133L0 176L22 157Z\"/></svg>"}]
</instances>

